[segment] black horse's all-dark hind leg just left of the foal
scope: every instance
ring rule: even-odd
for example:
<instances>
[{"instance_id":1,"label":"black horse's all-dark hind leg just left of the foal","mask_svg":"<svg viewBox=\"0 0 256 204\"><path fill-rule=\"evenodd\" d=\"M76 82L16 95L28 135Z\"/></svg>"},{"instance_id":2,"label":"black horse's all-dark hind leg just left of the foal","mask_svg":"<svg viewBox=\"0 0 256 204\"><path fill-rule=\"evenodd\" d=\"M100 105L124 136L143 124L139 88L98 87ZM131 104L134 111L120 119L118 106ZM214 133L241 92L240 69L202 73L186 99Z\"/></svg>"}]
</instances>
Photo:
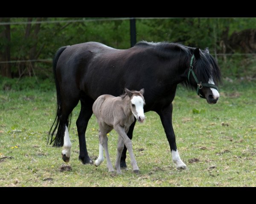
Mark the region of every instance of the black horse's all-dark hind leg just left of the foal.
<instances>
[{"instance_id":1,"label":"black horse's all-dark hind leg just left of the foal","mask_svg":"<svg viewBox=\"0 0 256 204\"><path fill-rule=\"evenodd\" d=\"M93 100L90 98L82 97L81 101L81 111L79 113L79 117L76 120L76 127L79 137L79 160L82 161L83 164L93 164L93 161L90 159L86 141L85 141L85 131L89 122L90 117L93 114L92 106Z\"/></svg>"}]
</instances>

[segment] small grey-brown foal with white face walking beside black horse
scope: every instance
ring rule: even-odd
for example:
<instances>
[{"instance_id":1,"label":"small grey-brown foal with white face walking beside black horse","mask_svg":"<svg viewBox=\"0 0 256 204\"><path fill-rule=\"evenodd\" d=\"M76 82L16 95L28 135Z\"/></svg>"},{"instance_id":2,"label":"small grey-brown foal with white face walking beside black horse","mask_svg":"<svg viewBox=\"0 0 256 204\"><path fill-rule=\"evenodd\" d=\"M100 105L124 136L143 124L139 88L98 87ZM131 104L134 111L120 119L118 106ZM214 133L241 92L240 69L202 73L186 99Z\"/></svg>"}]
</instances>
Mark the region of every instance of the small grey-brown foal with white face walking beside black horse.
<instances>
[{"instance_id":1,"label":"small grey-brown foal with white face walking beside black horse","mask_svg":"<svg viewBox=\"0 0 256 204\"><path fill-rule=\"evenodd\" d=\"M144 89L140 91L130 91L125 88L125 94L122 96L102 95L99 96L93 103L93 113L99 123L99 157L95 161L95 166L99 166L104 160L103 148L107 158L108 171L113 172L108 154L108 137L107 133L111 130L116 130L118 133L118 145L116 156L116 173L120 174L120 159L124 144L127 147L130 157L131 165L134 173L139 173L139 167L134 158L132 151L131 139L128 138L127 133L130 125L134 122L134 116L138 122L144 122L145 115L143 106L145 100L143 97Z\"/></svg>"}]
</instances>

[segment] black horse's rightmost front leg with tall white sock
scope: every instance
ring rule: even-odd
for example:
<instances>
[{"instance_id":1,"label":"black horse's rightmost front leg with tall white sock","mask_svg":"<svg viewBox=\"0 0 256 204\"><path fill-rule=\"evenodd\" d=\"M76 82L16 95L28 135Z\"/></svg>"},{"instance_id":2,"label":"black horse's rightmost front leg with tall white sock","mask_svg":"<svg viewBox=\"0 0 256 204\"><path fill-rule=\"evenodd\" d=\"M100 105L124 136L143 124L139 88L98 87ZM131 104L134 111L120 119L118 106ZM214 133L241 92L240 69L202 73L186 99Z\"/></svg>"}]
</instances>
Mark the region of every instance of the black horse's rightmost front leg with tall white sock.
<instances>
[{"instance_id":1,"label":"black horse's rightmost front leg with tall white sock","mask_svg":"<svg viewBox=\"0 0 256 204\"><path fill-rule=\"evenodd\" d=\"M175 133L172 127L172 104L156 112L160 116L166 137L171 148L172 161L174 162L177 169L186 169L186 164L184 164L180 159L176 146Z\"/></svg>"}]
</instances>

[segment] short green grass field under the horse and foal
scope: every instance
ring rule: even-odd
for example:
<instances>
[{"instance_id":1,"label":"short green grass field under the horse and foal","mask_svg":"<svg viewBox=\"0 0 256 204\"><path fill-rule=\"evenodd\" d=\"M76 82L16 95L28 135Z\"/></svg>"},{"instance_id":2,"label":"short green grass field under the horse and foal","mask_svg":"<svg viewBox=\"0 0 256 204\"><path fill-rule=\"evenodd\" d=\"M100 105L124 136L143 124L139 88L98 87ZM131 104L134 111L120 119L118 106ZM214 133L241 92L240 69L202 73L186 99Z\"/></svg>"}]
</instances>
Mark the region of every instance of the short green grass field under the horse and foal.
<instances>
[{"instance_id":1,"label":"short green grass field under the horse and foal","mask_svg":"<svg viewBox=\"0 0 256 204\"><path fill-rule=\"evenodd\" d=\"M22 85L22 81L19 82ZM3 83L2 83L3 86ZM52 87L51 87L52 86ZM39 88L0 91L0 187L195 187L256 186L256 82L226 82L216 105L195 92L178 87L173 102L173 126L181 159L188 170L176 170L158 115L145 113L144 124L134 129L133 149L140 174L128 170L108 173L106 160L99 167L78 160L79 142L73 111L69 166L64 169L61 148L47 146L55 118L56 94L52 83ZM87 149L98 156L95 116L87 127ZM109 136L114 164L117 135Z\"/></svg>"}]
</instances>

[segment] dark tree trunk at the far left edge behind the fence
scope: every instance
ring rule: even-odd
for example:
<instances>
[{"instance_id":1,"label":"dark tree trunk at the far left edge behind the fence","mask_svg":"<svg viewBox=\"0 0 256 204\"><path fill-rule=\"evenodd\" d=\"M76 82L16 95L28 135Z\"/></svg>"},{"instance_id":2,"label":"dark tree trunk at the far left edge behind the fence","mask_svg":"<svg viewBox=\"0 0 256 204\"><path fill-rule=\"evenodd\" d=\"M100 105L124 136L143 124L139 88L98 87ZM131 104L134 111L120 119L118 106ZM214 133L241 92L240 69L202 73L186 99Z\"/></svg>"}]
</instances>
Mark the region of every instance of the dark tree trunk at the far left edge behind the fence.
<instances>
[{"instance_id":1,"label":"dark tree trunk at the far left edge behind the fence","mask_svg":"<svg viewBox=\"0 0 256 204\"><path fill-rule=\"evenodd\" d=\"M0 18L0 22L10 22L10 18ZM3 47L0 51L0 61L6 62L11 60L11 27L10 25L4 25L2 29L3 31L0 33L0 37L4 42L0 45L0 47ZM10 63L0 63L0 67L3 77L12 78Z\"/></svg>"}]
</instances>

